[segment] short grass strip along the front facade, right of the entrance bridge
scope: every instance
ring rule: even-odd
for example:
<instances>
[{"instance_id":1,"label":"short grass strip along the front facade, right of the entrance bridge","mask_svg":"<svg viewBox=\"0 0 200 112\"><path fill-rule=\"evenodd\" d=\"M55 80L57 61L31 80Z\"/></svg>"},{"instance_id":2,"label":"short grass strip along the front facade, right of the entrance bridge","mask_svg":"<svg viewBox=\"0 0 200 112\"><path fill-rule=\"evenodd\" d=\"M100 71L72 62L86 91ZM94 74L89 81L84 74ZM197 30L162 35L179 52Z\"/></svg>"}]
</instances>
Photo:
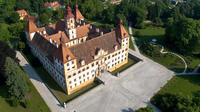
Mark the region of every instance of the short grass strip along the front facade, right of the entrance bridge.
<instances>
[{"instance_id":1,"label":"short grass strip along the front facade, right of the entrance bridge","mask_svg":"<svg viewBox=\"0 0 200 112\"><path fill-rule=\"evenodd\" d=\"M112 72L112 74L117 75L117 73L120 73L120 72L126 70L127 68L131 67L132 65L134 65L136 63L137 63L136 60L133 60L132 58L129 57L128 58L128 63L126 63L125 65L121 66L120 68L114 70Z\"/></svg>"}]
</instances>

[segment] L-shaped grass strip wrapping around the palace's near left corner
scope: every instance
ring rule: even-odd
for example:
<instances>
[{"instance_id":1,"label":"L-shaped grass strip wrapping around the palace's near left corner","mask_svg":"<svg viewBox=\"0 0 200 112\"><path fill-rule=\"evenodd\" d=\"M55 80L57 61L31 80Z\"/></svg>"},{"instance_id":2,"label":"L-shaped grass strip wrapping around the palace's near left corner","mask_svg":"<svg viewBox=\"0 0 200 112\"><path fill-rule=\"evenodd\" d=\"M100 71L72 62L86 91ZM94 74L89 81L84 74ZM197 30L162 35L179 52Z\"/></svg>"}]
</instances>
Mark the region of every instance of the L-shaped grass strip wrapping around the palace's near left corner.
<instances>
[{"instance_id":1,"label":"L-shaped grass strip wrapping around the palace's near left corner","mask_svg":"<svg viewBox=\"0 0 200 112\"><path fill-rule=\"evenodd\" d=\"M29 54L26 55L26 58L29 60L29 63L31 62L31 58L33 58L33 55ZM38 62L39 63L39 62ZM76 91L75 93L71 95L67 95L62 88L55 82L55 80L50 76L50 74L42 67L42 65L34 67L37 73L40 75L42 80L48 85L50 90L53 92L53 94L59 99L61 103L69 102L73 100L74 98L86 93L87 91L91 90L92 88L98 86L100 83L93 82L80 90Z\"/></svg>"}]
</instances>

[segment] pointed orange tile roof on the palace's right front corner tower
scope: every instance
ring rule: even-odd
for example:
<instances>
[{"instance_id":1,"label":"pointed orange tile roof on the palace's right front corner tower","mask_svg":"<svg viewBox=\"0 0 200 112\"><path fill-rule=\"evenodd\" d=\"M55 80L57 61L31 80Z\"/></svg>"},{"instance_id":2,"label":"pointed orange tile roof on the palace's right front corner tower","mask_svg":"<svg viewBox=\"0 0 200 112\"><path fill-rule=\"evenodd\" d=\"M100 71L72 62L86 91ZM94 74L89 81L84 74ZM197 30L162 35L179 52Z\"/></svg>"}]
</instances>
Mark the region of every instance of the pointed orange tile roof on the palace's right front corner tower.
<instances>
[{"instance_id":1,"label":"pointed orange tile roof on the palace's right front corner tower","mask_svg":"<svg viewBox=\"0 0 200 112\"><path fill-rule=\"evenodd\" d=\"M130 37L129 34L126 32L126 29L123 26L123 21L120 19L119 25L115 29L117 37L121 37L122 39L126 37Z\"/></svg>"}]
</instances>

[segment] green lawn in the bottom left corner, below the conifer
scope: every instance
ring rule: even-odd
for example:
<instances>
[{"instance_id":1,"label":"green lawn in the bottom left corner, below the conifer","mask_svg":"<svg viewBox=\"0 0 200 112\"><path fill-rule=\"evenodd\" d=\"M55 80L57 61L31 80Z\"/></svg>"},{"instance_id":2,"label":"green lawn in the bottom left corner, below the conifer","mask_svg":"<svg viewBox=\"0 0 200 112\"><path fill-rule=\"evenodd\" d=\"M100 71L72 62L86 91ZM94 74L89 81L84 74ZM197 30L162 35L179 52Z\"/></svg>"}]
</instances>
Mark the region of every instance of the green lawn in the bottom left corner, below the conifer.
<instances>
[{"instance_id":1,"label":"green lawn in the bottom left corner, below the conifer","mask_svg":"<svg viewBox=\"0 0 200 112\"><path fill-rule=\"evenodd\" d=\"M26 77L26 76L25 76ZM29 108L24 108L21 105L17 107L11 107L8 102L8 89L6 86L0 86L0 111L1 112L50 112L48 106L45 104L35 87L26 77L30 91L26 98L31 102Z\"/></svg>"}]
</instances>

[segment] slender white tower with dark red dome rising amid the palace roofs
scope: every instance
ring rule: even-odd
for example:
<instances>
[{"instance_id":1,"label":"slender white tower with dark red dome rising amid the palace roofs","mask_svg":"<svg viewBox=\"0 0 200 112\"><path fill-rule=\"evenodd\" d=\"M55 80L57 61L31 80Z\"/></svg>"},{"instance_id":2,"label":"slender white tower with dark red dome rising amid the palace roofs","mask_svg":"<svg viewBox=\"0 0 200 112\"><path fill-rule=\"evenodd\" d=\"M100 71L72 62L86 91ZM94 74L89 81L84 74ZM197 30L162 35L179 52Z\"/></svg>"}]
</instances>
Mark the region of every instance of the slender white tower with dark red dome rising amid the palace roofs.
<instances>
[{"instance_id":1,"label":"slender white tower with dark red dome rising amid the palace roofs","mask_svg":"<svg viewBox=\"0 0 200 112\"><path fill-rule=\"evenodd\" d=\"M71 8L68 6L66 15L65 15L65 31L69 37L69 39L75 39L76 38L76 28L75 28L75 20L74 20L74 14L72 13Z\"/></svg>"}]
</instances>

